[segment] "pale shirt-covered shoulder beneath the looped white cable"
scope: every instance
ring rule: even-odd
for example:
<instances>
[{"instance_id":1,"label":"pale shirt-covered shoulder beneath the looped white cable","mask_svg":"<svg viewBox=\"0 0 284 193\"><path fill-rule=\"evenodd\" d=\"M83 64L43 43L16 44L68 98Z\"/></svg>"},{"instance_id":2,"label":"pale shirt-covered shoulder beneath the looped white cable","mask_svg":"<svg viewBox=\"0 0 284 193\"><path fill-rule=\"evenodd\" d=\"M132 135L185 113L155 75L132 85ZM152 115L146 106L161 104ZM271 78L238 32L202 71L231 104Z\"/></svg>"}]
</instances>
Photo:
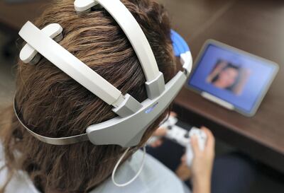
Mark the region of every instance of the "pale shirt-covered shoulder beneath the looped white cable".
<instances>
[{"instance_id":1,"label":"pale shirt-covered shoulder beneath the looped white cable","mask_svg":"<svg viewBox=\"0 0 284 193\"><path fill-rule=\"evenodd\" d=\"M116 173L116 181L124 183L136 175L136 172L141 166L143 152L137 151L133 154L130 160L121 165ZM145 164L141 174L136 180L126 187L116 187L111 178L106 180L102 185L94 189L91 193L102 192L124 192L124 193L151 193L151 192L163 192L163 193L183 193L184 187L182 182L176 177L176 175L165 167L158 160L152 156L146 154Z\"/></svg>"}]
</instances>

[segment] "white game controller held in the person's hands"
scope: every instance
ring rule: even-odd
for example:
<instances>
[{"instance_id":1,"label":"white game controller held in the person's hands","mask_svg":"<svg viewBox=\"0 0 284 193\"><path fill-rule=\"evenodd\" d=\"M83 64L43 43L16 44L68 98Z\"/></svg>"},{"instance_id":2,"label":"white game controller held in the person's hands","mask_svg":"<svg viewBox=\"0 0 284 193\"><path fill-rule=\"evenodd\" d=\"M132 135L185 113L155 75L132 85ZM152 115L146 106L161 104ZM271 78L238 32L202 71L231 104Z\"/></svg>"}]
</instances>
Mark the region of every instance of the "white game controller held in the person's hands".
<instances>
[{"instance_id":1,"label":"white game controller held in the person's hands","mask_svg":"<svg viewBox=\"0 0 284 193\"><path fill-rule=\"evenodd\" d=\"M170 116L168 117L168 120L166 122L160 124L160 128L167 129L167 132L165 134L166 139L174 141L186 148L185 155L186 155L187 165L191 166L194 154L192 151L192 146L190 144L190 138L195 135L197 137L200 150L204 151L205 144L207 141L207 136L204 133L204 131L198 129L197 127L192 127L190 131L187 131L186 129L183 129L182 127L176 125L177 122L178 119L176 117ZM148 144L152 144L155 140L157 140L156 136L151 137L148 140Z\"/></svg>"}]
</instances>

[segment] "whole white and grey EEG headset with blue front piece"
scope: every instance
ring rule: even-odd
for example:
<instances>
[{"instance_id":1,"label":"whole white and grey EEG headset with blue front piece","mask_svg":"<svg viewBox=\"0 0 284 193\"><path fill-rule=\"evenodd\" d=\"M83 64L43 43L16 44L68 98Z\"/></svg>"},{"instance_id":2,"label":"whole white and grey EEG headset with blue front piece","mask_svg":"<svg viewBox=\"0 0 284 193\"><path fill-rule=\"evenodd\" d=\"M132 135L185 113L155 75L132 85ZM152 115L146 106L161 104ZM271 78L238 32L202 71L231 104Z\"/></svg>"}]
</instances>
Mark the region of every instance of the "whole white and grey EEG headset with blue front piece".
<instances>
[{"instance_id":1,"label":"whole white and grey EEG headset with blue front piece","mask_svg":"<svg viewBox=\"0 0 284 193\"><path fill-rule=\"evenodd\" d=\"M97 95L105 103L112 105L114 107L112 111L118 116L99 124L90 125L84 134L61 138L41 136L28 129L18 117L15 100L16 117L35 138L47 144L67 145L89 140L95 145L136 146L141 141L146 129L165 111L187 80L192 69L190 49L185 40L172 30L173 48L175 56L180 57L182 71L178 71L178 74L165 84L163 73L158 70L146 36L136 19L121 1L76 0L74 4L78 13L89 11L99 4L120 25L131 42L146 76L145 86L148 99L139 103L129 94L122 95L120 90L59 45L58 41L62 40L62 27L59 24L53 23L40 30L28 21L18 33L26 41L26 45L21 49L20 59L24 63L36 64L40 59L39 54L41 54L84 88Z\"/></svg>"}]
</instances>

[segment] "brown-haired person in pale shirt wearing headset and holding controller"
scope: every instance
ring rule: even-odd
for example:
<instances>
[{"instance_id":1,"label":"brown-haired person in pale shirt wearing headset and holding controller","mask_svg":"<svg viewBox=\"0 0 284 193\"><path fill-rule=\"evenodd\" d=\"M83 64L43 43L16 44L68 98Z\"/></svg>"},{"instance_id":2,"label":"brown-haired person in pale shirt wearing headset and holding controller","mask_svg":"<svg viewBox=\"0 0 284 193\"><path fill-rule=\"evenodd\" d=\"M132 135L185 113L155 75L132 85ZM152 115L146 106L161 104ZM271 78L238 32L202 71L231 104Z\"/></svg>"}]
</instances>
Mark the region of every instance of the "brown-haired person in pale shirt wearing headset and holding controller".
<instances>
[{"instance_id":1,"label":"brown-haired person in pale shirt wearing headset and holding controller","mask_svg":"<svg viewBox=\"0 0 284 193\"><path fill-rule=\"evenodd\" d=\"M145 33L165 82L175 74L175 57L170 40L170 22L165 9L155 1L121 0ZM36 21L38 28L59 23L63 39L59 42L84 64L139 102L145 100L146 78L129 40L104 10L78 15L73 0L54 1ZM111 107L80 86L42 57L34 66L18 62L16 108L22 122L35 133L49 137L83 134L91 125L116 115ZM131 147L116 173L118 182L131 179L139 168L139 150L158 128L170 108L151 124L141 142ZM208 136L204 151L192 139L195 158L192 165L193 193L210 192L214 159L214 136ZM1 115L1 192L190 192L162 163L146 155L141 174L130 185L117 187L111 181L125 148L97 146L90 141L55 146L45 144L28 133L18 122L13 107Z\"/></svg>"}]
</instances>

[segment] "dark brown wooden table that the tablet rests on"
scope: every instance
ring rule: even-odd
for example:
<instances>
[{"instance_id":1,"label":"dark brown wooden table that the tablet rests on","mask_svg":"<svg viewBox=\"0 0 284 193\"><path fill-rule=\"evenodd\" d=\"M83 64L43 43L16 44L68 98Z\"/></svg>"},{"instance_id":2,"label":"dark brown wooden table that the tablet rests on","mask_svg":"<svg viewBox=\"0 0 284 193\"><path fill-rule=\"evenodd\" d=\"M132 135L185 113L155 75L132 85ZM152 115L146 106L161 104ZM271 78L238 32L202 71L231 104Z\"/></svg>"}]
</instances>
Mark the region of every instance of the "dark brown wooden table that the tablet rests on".
<instances>
[{"instance_id":1,"label":"dark brown wooden table that the tablet rests on","mask_svg":"<svg viewBox=\"0 0 284 193\"><path fill-rule=\"evenodd\" d=\"M175 100L180 119L206 125L217 138L284 172L284 1L159 0L197 57L212 38L280 65L268 94L252 118L225 110L186 88ZM18 30L43 10L48 1L4 4L0 21Z\"/></svg>"}]
</instances>

